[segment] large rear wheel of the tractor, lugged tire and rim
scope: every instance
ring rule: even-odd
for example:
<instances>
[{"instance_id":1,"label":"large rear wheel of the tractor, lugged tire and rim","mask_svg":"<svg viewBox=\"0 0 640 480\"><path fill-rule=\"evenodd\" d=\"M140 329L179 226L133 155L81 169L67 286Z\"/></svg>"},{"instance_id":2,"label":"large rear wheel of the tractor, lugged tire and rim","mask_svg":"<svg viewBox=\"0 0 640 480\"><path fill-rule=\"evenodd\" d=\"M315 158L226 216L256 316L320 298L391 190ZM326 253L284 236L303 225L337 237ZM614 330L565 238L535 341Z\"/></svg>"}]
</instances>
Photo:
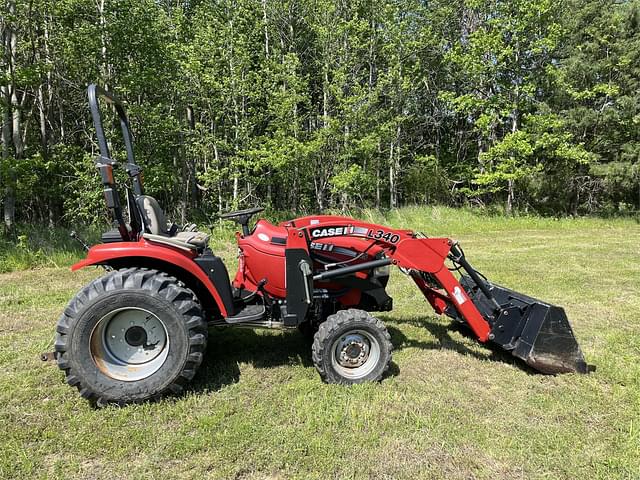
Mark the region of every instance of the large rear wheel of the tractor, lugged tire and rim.
<instances>
[{"instance_id":1,"label":"large rear wheel of the tractor, lugged tire and rim","mask_svg":"<svg viewBox=\"0 0 640 480\"><path fill-rule=\"evenodd\" d=\"M207 342L193 292L145 268L91 282L69 302L56 331L58 367L69 385L98 406L182 392Z\"/></svg>"}]
</instances>

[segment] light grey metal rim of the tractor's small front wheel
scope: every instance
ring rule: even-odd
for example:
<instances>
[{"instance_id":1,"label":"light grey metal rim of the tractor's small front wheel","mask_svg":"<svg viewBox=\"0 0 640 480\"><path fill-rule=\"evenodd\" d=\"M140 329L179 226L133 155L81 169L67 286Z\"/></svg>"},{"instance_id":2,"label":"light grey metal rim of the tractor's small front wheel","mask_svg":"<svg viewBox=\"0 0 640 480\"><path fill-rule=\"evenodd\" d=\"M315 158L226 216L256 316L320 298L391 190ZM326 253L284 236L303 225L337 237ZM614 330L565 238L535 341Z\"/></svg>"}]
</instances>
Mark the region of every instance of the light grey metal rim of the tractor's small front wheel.
<instances>
[{"instance_id":1,"label":"light grey metal rim of the tractor's small front wheel","mask_svg":"<svg viewBox=\"0 0 640 480\"><path fill-rule=\"evenodd\" d=\"M380 344L369 332L350 330L331 346L331 364L343 377L357 380L369 375L380 360Z\"/></svg>"}]
</instances>

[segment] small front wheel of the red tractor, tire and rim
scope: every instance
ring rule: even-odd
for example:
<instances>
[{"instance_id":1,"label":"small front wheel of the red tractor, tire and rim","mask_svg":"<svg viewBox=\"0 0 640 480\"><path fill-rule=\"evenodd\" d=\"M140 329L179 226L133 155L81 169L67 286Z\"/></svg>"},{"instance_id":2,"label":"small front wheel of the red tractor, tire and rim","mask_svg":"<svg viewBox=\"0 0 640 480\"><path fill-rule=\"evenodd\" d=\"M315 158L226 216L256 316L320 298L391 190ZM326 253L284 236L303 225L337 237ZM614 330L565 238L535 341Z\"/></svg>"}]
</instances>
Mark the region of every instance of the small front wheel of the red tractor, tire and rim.
<instances>
[{"instance_id":1,"label":"small front wheel of the red tractor, tire and rim","mask_svg":"<svg viewBox=\"0 0 640 480\"><path fill-rule=\"evenodd\" d=\"M377 382L389 368L392 349L380 320L363 310L340 310L320 324L312 359L326 383Z\"/></svg>"}]
</instances>

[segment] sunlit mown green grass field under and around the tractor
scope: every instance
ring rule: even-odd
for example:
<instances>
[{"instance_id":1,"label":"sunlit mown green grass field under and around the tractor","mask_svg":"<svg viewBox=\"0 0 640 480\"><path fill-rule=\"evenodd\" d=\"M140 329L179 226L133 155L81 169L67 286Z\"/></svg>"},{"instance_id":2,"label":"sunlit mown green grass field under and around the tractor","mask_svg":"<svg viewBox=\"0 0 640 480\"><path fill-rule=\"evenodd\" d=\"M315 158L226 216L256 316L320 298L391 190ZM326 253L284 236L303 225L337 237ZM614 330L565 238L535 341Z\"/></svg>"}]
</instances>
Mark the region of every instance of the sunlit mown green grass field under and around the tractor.
<instances>
[{"instance_id":1,"label":"sunlit mown green grass field under and around the tractor","mask_svg":"<svg viewBox=\"0 0 640 480\"><path fill-rule=\"evenodd\" d=\"M181 397L92 409L38 356L99 270L0 275L2 478L640 478L640 225L402 209L492 281L566 308L591 375L532 374L432 313L399 271L381 384L324 385L294 332L212 330ZM235 268L234 247L213 246Z\"/></svg>"}]
</instances>

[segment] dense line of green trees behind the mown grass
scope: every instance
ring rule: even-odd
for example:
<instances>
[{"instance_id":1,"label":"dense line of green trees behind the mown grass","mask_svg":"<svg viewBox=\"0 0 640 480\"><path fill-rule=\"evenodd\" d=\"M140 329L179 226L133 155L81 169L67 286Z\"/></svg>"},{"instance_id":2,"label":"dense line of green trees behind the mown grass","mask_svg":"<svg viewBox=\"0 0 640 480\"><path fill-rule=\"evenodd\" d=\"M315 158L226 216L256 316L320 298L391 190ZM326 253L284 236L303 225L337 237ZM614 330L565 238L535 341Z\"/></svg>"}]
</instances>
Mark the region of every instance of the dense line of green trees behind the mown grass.
<instances>
[{"instance_id":1,"label":"dense line of green trees behind the mown grass","mask_svg":"<svg viewBox=\"0 0 640 480\"><path fill-rule=\"evenodd\" d=\"M255 204L637 211L639 7L3 0L5 229L104 219L92 82L126 100L147 191L178 219Z\"/></svg>"}]
</instances>

